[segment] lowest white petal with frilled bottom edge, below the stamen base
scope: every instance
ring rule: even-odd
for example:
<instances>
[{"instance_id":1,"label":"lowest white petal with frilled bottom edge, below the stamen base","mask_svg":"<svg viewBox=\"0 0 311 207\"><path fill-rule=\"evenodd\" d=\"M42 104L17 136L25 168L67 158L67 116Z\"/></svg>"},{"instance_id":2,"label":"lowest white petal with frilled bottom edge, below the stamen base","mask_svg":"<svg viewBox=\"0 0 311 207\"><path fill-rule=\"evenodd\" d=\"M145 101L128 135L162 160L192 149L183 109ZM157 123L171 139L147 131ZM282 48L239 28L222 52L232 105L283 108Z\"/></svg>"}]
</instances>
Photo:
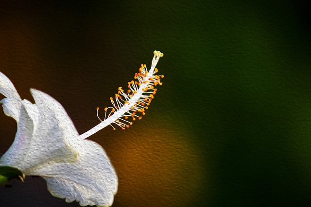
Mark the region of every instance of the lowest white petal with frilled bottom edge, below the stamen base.
<instances>
[{"instance_id":1,"label":"lowest white petal with frilled bottom edge, below the stamen base","mask_svg":"<svg viewBox=\"0 0 311 207\"><path fill-rule=\"evenodd\" d=\"M83 140L85 154L74 163L53 163L37 169L53 196L79 201L81 206L111 206L118 189L118 177L103 148Z\"/></svg>"}]
</instances>

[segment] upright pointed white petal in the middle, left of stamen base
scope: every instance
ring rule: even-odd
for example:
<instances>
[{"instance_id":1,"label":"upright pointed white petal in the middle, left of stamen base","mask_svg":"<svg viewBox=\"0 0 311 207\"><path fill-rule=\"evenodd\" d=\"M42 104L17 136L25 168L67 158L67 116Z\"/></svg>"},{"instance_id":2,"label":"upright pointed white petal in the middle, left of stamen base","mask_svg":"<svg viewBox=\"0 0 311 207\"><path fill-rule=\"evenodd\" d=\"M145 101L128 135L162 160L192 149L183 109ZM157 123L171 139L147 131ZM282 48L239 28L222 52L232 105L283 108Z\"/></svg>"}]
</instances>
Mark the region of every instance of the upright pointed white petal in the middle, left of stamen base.
<instances>
[{"instance_id":1,"label":"upright pointed white petal in the middle, left of stamen base","mask_svg":"<svg viewBox=\"0 0 311 207\"><path fill-rule=\"evenodd\" d=\"M76 141L78 132L64 108L51 96L31 90L35 105L24 100L26 108L32 112L31 117L36 121L31 145L24 156L24 173L32 174L36 168L54 162L74 162L79 152L83 152ZM68 126L66 126L68 125ZM23 167L23 166L21 166Z\"/></svg>"}]
</instances>

